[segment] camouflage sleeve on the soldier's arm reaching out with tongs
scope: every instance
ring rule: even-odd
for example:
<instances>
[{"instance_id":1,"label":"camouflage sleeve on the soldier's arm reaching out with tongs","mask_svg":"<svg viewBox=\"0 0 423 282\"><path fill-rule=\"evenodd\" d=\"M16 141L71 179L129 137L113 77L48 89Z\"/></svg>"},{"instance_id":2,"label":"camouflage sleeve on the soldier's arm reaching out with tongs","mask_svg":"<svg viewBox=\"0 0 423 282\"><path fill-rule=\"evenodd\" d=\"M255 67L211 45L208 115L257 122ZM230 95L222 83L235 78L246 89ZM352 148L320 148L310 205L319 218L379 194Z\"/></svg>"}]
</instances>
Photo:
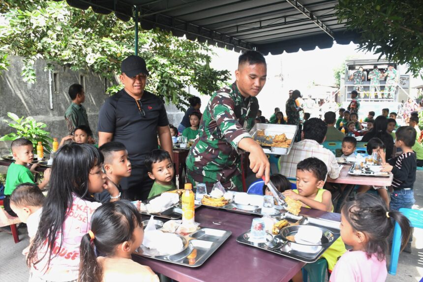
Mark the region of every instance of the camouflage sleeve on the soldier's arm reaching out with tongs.
<instances>
[{"instance_id":1,"label":"camouflage sleeve on the soldier's arm reaching out with tongs","mask_svg":"<svg viewBox=\"0 0 423 282\"><path fill-rule=\"evenodd\" d=\"M250 137L247 130L237 121L235 116L235 102L228 93L219 93L211 101L212 119L222 132L226 142L238 150L238 143L242 138Z\"/></svg>"}]
</instances>

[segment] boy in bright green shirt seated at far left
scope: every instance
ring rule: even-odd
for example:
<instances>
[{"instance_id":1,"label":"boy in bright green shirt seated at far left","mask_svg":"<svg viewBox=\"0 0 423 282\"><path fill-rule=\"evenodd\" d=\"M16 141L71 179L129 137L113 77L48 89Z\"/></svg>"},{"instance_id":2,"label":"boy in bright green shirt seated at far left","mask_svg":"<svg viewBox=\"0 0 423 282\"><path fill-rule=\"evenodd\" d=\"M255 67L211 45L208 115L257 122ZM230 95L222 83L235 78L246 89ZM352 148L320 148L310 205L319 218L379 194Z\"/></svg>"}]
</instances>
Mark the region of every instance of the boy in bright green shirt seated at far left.
<instances>
[{"instance_id":1,"label":"boy in bright green shirt seated at far left","mask_svg":"<svg viewBox=\"0 0 423 282\"><path fill-rule=\"evenodd\" d=\"M16 217L17 215L10 208L10 195L19 184L35 184L33 174L36 173L35 169L38 167L38 164L33 164L30 169L28 168L28 165L34 158L34 147L30 140L25 138L18 138L12 142L10 147L12 150L12 155L15 158L15 162L11 163L7 169L3 205L4 210L9 215ZM45 188L49 183L50 171L50 168L44 171L44 180L39 185L40 189Z\"/></svg>"}]
</instances>

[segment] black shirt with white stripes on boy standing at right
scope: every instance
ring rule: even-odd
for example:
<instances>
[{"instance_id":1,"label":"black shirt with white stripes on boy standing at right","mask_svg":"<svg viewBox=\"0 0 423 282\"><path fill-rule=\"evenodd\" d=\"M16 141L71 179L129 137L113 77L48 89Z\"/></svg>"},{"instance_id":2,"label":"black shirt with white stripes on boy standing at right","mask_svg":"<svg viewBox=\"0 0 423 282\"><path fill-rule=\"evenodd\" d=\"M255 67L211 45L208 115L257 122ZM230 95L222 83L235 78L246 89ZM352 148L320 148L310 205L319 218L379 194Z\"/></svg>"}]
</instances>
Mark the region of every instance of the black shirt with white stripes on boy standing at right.
<instances>
[{"instance_id":1,"label":"black shirt with white stripes on boy standing at right","mask_svg":"<svg viewBox=\"0 0 423 282\"><path fill-rule=\"evenodd\" d=\"M393 166L393 189L413 189L414 182L416 181L416 154L414 152L404 153L388 160L388 163Z\"/></svg>"}]
</instances>

